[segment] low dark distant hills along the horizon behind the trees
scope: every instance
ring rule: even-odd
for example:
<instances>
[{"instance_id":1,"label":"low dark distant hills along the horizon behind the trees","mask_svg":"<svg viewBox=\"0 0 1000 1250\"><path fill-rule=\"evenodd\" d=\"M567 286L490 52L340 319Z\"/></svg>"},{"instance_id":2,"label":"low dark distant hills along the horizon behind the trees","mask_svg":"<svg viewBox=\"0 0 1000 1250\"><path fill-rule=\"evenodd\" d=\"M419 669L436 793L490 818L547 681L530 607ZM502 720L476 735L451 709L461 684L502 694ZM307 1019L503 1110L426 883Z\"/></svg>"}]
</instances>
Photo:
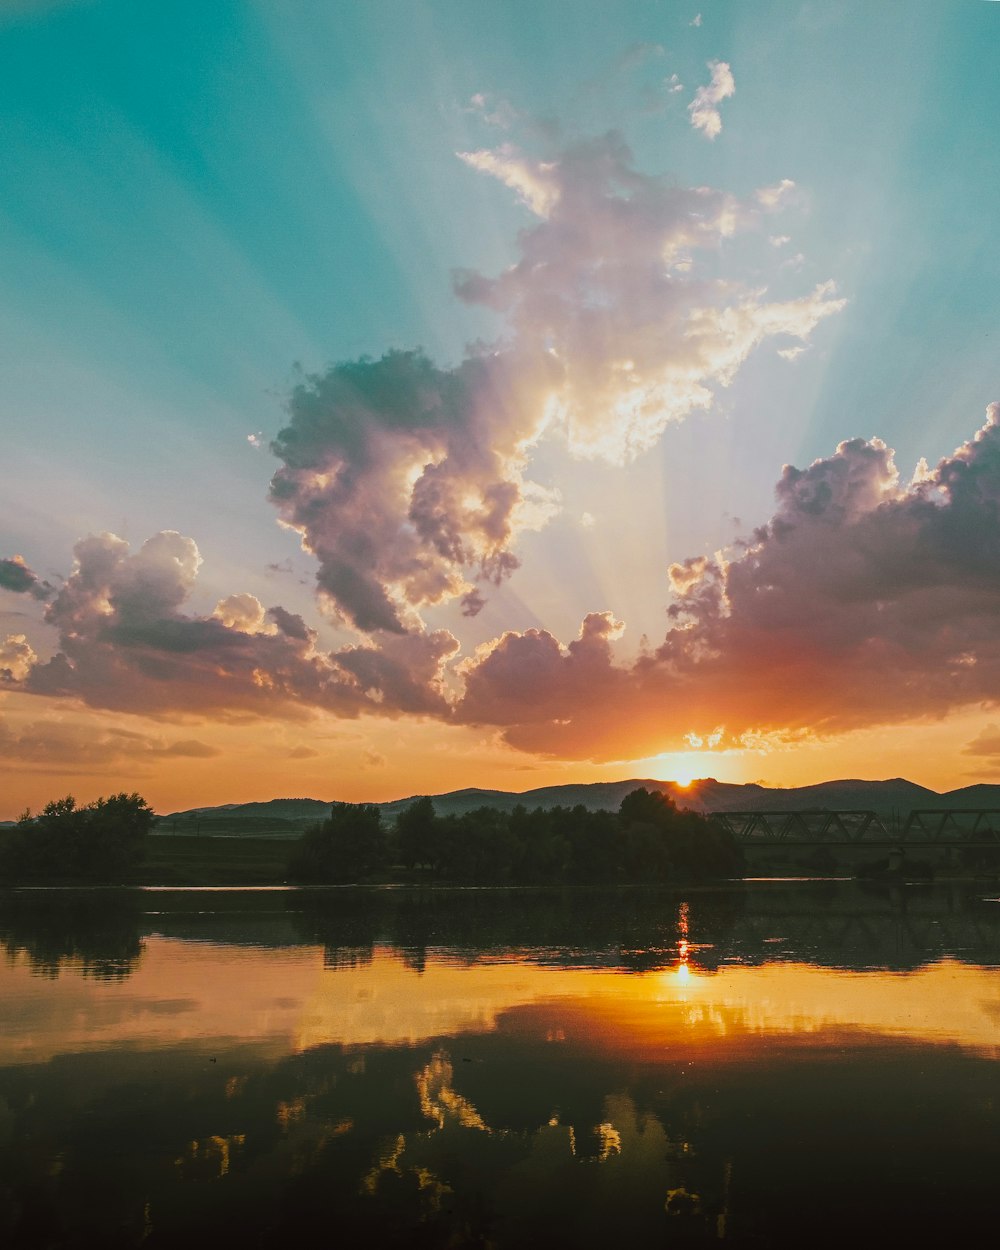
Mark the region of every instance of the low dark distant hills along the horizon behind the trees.
<instances>
[{"instance_id":1,"label":"low dark distant hills along the horizon behind the trees","mask_svg":"<svg viewBox=\"0 0 1000 1250\"><path fill-rule=\"evenodd\" d=\"M435 794L434 809L439 816L460 816L476 808L511 811L525 808L575 808L589 811L601 808L616 810L631 790L645 786L669 794L679 808L694 811L804 811L830 809L850 811L871 809L879 812L908 812L915 808L995 808L1000 810L1000 785L970 785L939 794L905 778L886 781L822 781L819 785L786 789L756 785L734 785L702 778L688 786L676 781L654 781L631 778L628 781L591 781L579 785L541 786L516 792L511 790L451 790ZM420 795L378 804L386 820L396 816ZM161 816L158 832L200 832L229 836L296 838L310 824L324 819L336 800L271 799L266 802L228 802L218 808L191 808Z\"/></svg>"}]
</instances>

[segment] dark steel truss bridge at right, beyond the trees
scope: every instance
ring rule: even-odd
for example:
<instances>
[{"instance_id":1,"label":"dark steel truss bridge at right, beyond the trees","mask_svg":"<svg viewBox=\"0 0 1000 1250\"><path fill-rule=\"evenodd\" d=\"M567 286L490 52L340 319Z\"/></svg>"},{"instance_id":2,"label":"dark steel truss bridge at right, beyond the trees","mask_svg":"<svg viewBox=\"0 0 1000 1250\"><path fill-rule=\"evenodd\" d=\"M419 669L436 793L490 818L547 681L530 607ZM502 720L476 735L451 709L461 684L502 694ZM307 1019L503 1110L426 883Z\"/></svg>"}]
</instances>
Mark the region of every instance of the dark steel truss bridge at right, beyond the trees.
<instances>
[{"instance_id":1,"label":"dark steel truss bridge at right, beyond the trees","mask_svg":"<svg viewBox=\"0 0 1000 1250\"><path fill-rule=\"evenodd\" d=\"M742 846L1000 848L1000 809L878 811L710 811Z\"/></svg>"}]
</instances>

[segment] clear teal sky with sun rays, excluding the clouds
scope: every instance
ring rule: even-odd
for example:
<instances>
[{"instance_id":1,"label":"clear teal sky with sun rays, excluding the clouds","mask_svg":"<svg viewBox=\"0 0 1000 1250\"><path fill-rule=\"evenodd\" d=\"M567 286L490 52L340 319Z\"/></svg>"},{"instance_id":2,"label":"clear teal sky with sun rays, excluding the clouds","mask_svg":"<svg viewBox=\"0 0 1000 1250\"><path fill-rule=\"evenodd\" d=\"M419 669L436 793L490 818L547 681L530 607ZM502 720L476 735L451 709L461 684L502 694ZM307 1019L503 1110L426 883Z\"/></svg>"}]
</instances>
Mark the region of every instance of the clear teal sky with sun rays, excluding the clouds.
<instances>
[{"instance_id":1,"label":"clear teal sky with sun rays, excluding the clouds","mask_svg":"<svg viewBox=\"0 0 1000 1250\"><path fill-rule=\"evenodd\" d=\"M415 346L454 366L502 338L451 274L514 264L532 216L456 154L616 129L682 186L792 180L711 264L846 305L624 466L542 442L559 516L480 615L424 615L464 654L505 629L565 641L598 610L629 654L655 644L668 565L764 524L782 464L878 435L909 479L1000 398L998 48L988 0L0 4L0 555L55 581L88 532L179 530L205 558L192 609L249 591L341 636L268 502L296 369ZM735 78L711 140L689 118L710 61ZM0 624L31 611L49 654L40 606Z\"/></svg>"}]
</instances>

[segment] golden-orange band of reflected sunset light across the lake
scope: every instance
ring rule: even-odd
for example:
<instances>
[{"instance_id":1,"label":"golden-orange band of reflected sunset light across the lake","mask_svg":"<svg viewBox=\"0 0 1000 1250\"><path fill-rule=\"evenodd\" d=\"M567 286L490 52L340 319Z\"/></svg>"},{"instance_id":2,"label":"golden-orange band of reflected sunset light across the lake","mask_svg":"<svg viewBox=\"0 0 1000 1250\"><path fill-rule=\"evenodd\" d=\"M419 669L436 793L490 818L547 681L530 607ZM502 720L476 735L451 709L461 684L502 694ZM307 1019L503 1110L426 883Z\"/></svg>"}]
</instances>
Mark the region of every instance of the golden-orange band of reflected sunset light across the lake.
<instances>
[{"instance_id":1,"label":"golden-orange band of reflected sunset light across the lake","mask_svg":"<svg viewBox=\"0 0 1000 1250\"><path fill-rule=\"evenodd\" d=\"M630 976L542 968L516 956L472 966L430 959L416 971L378 945L370 961L331 969L321 948L265 958L150 938L128 981L66 974L42 984L18 956L0 969L0 989L35 1009L44 1002L46 1026L26 1010L5 1032L0 1059L38 1062L66 1049L160 1048L182 1039L249 1042L270 1054L330 1042L412 1045L491 1032L501 1020L504 1028L578 1046L599 1040L621 1054L661 1054L676 1045L711 1051L725 1040L735 1055L755 1038L819 1044L831 1031L849 1030L855 1038L910 1038L1000 1055L992 969L942 960L909 972L845 972L790 961L710 971L699 966L704 948L685 932L685 919L681 910L671 965Z\"/></svg>"}]
</instances>

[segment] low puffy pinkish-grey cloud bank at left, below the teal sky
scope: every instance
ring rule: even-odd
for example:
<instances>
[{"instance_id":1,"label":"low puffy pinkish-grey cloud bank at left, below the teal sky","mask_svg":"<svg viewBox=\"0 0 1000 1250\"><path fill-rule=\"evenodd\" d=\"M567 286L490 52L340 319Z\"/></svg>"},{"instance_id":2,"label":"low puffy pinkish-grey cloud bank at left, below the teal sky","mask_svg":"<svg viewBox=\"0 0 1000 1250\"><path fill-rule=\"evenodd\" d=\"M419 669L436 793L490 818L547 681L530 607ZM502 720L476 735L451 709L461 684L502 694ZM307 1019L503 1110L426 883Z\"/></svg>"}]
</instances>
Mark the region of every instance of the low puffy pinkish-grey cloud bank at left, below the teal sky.
<instances>
[{"instance_id":1,"label":"low puffy pinkish-grey cloud bank at left, below the teal sky","mask_svg":"<svg viewBox=\"0 0 1000 1250\"><path fill-rule=\"evenodd\" d=\"M15 639L2 652L2 671L30 694L148 715L448 711L444 665L458 649L448 631L322 651L301 616L252 595L221 600L211 616L185 612L201 556L175 531L135 554L114 534L74 550L75 569L45 611L59 651L31 664Z\"/></svg>"}]
</instances>

